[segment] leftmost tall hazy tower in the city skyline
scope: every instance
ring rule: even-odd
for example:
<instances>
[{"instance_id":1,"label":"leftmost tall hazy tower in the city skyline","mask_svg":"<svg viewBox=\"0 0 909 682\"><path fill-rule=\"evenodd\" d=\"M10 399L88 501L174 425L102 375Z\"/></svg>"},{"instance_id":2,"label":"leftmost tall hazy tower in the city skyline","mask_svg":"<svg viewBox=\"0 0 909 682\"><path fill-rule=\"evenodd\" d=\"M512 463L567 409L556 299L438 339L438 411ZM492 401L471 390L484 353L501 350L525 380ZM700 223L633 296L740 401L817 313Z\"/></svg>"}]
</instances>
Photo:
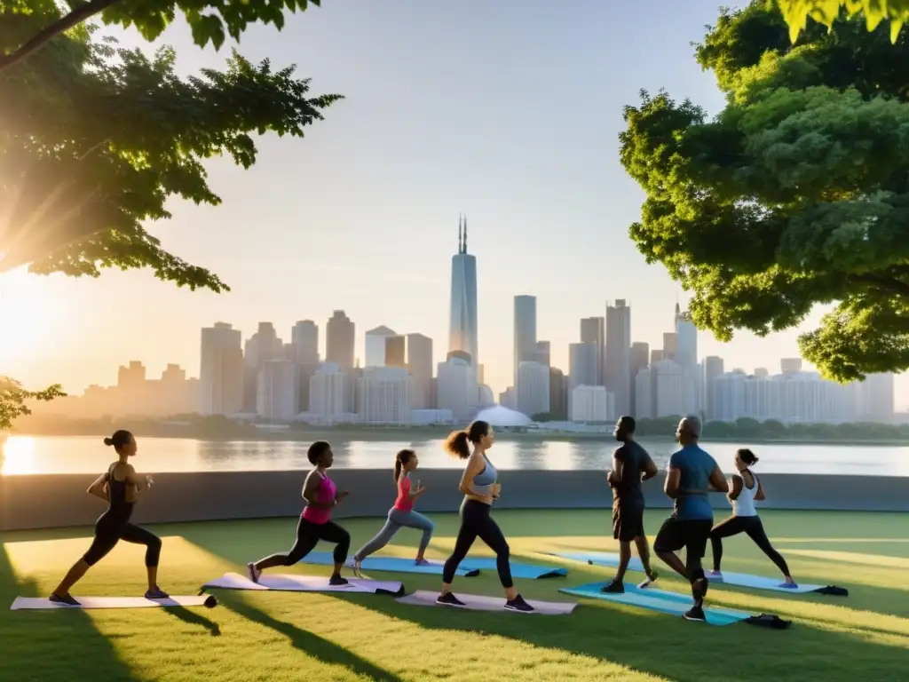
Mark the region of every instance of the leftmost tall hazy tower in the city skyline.
<instances>
[{"instance_id":1,"label":"leftmost tall hazy tower in the city skyline","mask_svg":"<svg viewBox=\"0 0 909 682\"><path fill-rule=\"evenodd\" d=\"M242 343L240 330L224 322L202 330L199 411L203 415L235 415L243 410Z\"/></svg>"}]
</instances>

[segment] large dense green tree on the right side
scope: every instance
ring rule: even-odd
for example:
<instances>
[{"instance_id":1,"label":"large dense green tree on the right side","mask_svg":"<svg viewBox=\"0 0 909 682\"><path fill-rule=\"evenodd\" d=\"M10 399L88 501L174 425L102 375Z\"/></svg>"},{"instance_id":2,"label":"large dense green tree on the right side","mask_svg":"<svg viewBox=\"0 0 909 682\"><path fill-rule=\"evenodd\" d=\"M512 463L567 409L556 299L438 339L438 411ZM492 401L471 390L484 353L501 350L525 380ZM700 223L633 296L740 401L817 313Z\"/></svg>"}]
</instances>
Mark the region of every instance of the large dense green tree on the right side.
<instances>
[{"instance_id":1,"label":"large dense green tree on the right side","mask_svg":"<svg viewBox=\"0 0 909 682\"><path fill-rule=\"evenodd\" d=\"M727 97L714 118L642 93L621 159L644 188L630 234L692 292L694 323L728 341L795 326L840 381L909 367L909 44L883 27L809 22L794 47L758 0L697 46Z\"/></svg>"}]
</instances>

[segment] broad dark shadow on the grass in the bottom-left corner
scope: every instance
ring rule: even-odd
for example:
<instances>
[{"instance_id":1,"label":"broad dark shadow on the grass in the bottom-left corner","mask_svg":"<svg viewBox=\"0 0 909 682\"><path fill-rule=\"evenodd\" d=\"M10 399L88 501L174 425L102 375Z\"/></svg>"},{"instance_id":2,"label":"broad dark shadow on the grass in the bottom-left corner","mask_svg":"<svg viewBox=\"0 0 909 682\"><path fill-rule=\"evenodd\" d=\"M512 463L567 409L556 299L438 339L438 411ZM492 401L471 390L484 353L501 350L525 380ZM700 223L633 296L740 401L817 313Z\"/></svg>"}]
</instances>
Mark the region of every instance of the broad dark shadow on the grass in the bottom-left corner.
<instances>
[{"instance_id":1,"label":"broad dark shadow on the grass in the bottom-left corner","mask_svg":"<svg viewBox=\"0 0 909 682\"><path fill-rule=\"evenodd\" d=\"M15 575L0 546L0 682L32 680L132 680L132 670L82 609L11 611L15 597L45 597L37 584ZM5 610L3 610L5 609ZM60 643L67 653L61 657ZM68 651L77 650L73 657Z\"/></svg>"}]
</instances>

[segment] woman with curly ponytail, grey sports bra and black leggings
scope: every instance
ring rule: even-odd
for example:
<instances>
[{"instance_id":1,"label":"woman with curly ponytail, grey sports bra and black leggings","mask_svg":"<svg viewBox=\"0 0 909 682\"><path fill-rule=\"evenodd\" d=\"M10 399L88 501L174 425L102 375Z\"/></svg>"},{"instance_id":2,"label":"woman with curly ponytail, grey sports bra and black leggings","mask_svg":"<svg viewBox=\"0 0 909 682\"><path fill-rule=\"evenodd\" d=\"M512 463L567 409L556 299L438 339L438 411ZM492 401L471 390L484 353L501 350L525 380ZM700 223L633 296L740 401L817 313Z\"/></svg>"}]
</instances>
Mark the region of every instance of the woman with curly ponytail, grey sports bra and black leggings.
<instances>
[{"instance_id":1,"label":"woman with curly ponytail, grey sports bra and black leggings","mask_svg":"<svg viewBox=\"0 0 909 682\"><path fill-rule=\"evenodd\" d=\"M464 602L452 594L452 580L457 567L464 561L474 540L479 537L495 552L495 568L505 589L505 608L529 612L534 607L525 602L524 597L514 588L509 564L510 549L490 514L493 500L502 491L502 486L496 483L498 473L486 457L486 450L493 446L494 440L493 427L477 420L464 431L454 431L445 441L445 451L451 456L466 460L467 466L464 466L459 488L464 493L460 510L461 528L454 542L454 553L445 561L442 571L442 594L435 601L448 607L464 606Z\"/></svg>"}]
</instances>

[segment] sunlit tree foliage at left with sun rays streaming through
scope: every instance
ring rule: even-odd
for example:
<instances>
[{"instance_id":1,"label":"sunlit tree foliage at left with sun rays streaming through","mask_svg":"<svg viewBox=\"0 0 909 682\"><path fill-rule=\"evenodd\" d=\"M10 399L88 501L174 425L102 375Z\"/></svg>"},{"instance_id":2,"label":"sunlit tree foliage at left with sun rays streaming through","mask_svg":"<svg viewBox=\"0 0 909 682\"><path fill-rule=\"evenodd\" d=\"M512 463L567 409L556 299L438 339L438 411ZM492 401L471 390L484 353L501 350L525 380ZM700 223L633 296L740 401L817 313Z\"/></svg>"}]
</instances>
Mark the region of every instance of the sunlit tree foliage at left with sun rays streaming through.
<instances>
[{"instance_id":1,"label":"sunlit tree foliage at left with sun rays streaming through","mask_svg":"<svg viewBox=\"0 0 909 682\"><path fill-rule=\"evenodd\" d=\"M0 44L45 21L9 7L0 5ZM71 276L149 267L177 286L227 290L214 273L165 251L147 221L170 217L171 196L218 205L205 159L229 155L249 168L253 135L302 137L340 95L310 96L295 67L253 65L236 53L224 71L181 79L172 49L149 58L93 32L74 28L0 72L0 273L25 265ZM23 414L15 396L55 395L55 386L0 393L0 411Z\"/></svg>"}]
</instances>

